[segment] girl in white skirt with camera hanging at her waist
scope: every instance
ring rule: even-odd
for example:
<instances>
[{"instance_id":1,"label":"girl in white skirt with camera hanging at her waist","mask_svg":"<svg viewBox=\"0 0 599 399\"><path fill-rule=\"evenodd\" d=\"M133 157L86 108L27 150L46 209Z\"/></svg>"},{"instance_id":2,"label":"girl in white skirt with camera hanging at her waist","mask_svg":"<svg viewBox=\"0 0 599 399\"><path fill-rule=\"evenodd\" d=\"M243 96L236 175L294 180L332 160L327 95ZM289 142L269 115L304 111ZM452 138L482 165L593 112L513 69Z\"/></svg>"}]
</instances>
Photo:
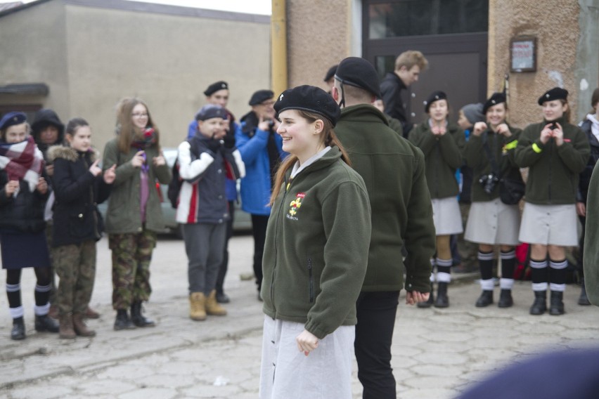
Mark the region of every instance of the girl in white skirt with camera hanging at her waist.
<instances>
[{"instance_id":1,"label":"girl in white skirt with camera hanging at her waist","mask_svg":"<svg viewBox=\"0 0 599 399\"><path fill-rule=\"evenodd\" d=\"M520 230L520 209L517 204L501 202L499 180L515 178L522 181L520 169L515 163L514 152L520 129L510 126L505 93L493 93L484 103L487 123L477 122L466 143L464 158L473 170L472 206L464 239L478 243L478 263L482 294L476 301L477 308L493 303L493 250L501 249L501 294L498 306L513 305L512 287L516 265L515 246Z\"/></svg>"}]
</instances>

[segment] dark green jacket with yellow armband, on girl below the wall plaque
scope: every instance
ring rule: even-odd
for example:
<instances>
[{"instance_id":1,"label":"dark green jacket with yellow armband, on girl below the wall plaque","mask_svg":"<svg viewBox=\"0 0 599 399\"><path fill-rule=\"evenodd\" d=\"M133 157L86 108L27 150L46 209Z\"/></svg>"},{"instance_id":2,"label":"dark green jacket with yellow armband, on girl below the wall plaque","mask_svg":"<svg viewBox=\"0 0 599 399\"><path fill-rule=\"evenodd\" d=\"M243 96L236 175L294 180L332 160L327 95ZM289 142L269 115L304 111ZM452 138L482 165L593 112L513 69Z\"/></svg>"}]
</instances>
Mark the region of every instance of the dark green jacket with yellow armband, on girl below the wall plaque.
<instances>
[{"instance_id":1,"label":"dark green jacket with yellow armband, on girl below the wall plaque","mask_svg":"<svg viewBox=\"0 0 599 399\"><path fill-rule=\"evenodd\" d=\"M574 204L578 179L591 148L584 131L558 119L564 131L564 143L558 147L553 138L541 143L541 130L549 122L529 124L518 140L515 159L521 168L529 168L526 202L531 204Z\"/></svg>"}]
</instances>

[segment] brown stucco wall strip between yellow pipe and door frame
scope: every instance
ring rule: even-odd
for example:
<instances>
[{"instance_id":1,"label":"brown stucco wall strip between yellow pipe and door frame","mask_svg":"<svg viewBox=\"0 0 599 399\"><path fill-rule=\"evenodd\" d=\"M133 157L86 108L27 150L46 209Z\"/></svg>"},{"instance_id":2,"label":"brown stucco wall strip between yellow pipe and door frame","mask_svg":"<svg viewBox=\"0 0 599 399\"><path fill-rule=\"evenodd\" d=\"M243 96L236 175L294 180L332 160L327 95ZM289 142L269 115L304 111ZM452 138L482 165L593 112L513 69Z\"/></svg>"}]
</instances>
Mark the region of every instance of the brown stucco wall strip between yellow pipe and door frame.
<instances>
[{"instance_id":1,"label":"brown stucco wall strip between yellow pipe and door frame","mask_svg":"<svg viewBox=\"0 0 599 399\"><path fill-rule=\"evenodd\" d=\"M329 67L351 53L351 0L288 0L289 86L326 88Z\"/></svg>"}]
</instances>

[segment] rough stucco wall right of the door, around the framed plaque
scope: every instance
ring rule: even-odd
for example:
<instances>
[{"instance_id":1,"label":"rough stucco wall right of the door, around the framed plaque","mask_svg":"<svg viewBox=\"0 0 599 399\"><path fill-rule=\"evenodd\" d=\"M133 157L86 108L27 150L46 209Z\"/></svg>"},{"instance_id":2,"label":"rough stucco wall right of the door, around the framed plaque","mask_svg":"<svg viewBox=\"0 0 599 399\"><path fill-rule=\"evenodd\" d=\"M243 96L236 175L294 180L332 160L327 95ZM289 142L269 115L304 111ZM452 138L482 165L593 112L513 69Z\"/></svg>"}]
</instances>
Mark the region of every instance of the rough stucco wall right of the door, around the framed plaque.
<instances>
[{"instance_id":1,"label":"rough stucco wall right of the door, around the framed plaque","mask_svg":"<svg viewBox=\"0 0 599 399\"><path fill-rule=\"evenodd\" d=\"M569 91L570 122L586 114L599 72L597 35L588 29L596 33L598 20L597 1L581 2L594 4L594 15L574 0L544 1L543 6L530 0L489 1L489 93L501 89L504 74L510 73L510 122L515 126L539 122L543 115L536 101L555 86ZM523 35L536 37L536 72L513 73L510 39ZM581 53L585 48L590 48L586 55Z\"/></svg>"}]
</instances>

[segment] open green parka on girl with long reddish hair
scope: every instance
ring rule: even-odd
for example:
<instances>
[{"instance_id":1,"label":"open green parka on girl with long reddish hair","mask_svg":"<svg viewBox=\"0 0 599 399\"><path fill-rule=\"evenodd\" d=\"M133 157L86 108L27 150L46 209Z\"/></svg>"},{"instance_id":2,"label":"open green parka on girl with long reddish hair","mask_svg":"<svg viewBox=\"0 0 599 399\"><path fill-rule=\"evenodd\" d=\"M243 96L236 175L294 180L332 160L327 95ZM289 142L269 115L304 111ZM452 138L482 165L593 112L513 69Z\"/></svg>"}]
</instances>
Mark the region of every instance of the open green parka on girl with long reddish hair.
<instances>
[{"instance_id":1,"label":"open green parka on girl with long reddish hair","mask_svg":"<svg viewBox=\"0 0 599 399\"><path fill-rule=\"evenodd\" d=\"M141 214L139 204L141 193L139 183L139 168L131 164L131 158L139 151L131 148L127 154L120 152L118 138L113 138L104 148L102 160L103 169L108 169L116 164L115 183L112 183L112 192L106 211L105 231L112 234L141 233ZM156 189L156 181L168 184L171 181L171 169L167 164L154 166L152 159L160 155L156 146L146 150L148 164L148 202L146 204L146 228L157 233L165 230L165 220L162 217L160 198Z\"/></svg>"}]
</instances>

